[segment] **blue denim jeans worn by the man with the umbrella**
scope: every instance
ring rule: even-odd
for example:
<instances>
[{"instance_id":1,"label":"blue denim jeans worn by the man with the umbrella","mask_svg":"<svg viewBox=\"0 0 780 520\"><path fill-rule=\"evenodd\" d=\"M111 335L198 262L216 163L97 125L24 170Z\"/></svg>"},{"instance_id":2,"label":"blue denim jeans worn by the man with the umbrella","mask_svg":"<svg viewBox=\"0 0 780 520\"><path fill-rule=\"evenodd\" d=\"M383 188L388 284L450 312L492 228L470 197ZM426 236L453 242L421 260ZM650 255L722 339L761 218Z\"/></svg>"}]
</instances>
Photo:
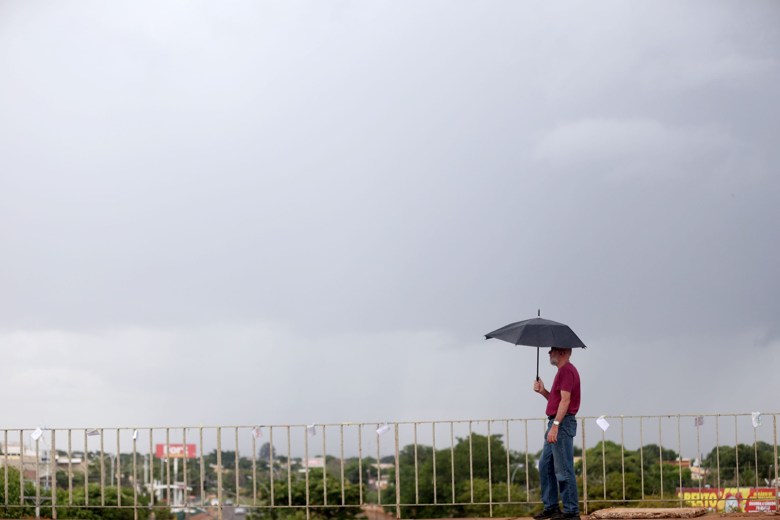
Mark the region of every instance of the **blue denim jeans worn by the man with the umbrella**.
<instances>
[{"instance_id":1,"label":"blue denim jeans worn by the man with the umbrella","mask_svg":"<svg viewBox=\"0 0 780 520\"><path fill-rule=\"evenodd\" d=\"M561 501L564 513L580 512L577 497L577 479L574 475L574 436L577 433L577 420L573 415L566 415L558 426L558 442L547 442L552 419L548 422L544 433L544 448L539 459L539 480L541 483L541 501L544 509L558 507L558 490L561 490Z\"/></svg>"}]
</instances>

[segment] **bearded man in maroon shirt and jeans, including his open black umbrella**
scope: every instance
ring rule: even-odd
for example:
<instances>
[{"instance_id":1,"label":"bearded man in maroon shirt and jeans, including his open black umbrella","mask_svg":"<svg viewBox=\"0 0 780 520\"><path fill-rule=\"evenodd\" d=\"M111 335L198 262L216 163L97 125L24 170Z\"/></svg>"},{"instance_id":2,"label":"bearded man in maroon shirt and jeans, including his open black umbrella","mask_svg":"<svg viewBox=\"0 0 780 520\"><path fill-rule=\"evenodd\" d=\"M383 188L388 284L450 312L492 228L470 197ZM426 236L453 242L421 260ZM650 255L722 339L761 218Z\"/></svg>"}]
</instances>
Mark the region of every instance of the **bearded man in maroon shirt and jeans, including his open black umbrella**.
<instances>
[{"instance_id":1,"label":"bearded man in maroon shirt and jeans, including his open black umbrella","mask_svg":"<svg viewBox=\"0 0 780 520\"><path fill-rule=\"evenodd\" d=\"M547 399L548 426L539 460L539 480L544 511L537 520L580 520L577 481L574 475L575 415L580 410L580 374L569 362L572 348L585 348L579 337L562 323L536 317L510 323L485 335L516 345L537 347L537 378L534 391ZM558 368L548 391L539 379L539 349L549 348L550 364ZM563 511L558 507L561 492Z\"/></svg>"}]
</instances>

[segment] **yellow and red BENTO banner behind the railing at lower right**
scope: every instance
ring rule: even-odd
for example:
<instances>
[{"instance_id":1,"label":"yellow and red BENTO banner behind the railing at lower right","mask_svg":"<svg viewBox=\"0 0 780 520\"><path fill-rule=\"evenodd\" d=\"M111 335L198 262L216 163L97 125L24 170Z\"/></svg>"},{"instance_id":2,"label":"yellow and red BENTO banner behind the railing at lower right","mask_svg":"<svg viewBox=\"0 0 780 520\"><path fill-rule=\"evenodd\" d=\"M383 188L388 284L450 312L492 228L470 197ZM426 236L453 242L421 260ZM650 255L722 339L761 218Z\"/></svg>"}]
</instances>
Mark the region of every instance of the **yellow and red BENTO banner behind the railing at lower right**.
<instances>
[{"instance_id":1,"label":"yellow and red BENTO banner behind the railing at lower right","mask_svg":"<svg viewBox=\"0 0 780 520\"><path fill-rule=\"evenodd\" d=\"M774 487L677 488L677 497L690 508L707 508L715 513L759 513L777 511Z\"/></svg>"}]
</instances>

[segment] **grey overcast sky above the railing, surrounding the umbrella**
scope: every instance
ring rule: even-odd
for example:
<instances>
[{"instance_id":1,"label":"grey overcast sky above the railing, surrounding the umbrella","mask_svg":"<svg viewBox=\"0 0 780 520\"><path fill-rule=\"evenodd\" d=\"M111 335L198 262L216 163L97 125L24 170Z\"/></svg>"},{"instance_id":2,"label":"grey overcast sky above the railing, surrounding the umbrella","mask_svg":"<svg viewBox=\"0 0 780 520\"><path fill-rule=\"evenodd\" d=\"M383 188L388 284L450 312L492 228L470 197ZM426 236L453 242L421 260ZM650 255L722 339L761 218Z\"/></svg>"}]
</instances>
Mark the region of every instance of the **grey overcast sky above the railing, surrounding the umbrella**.
<instances>
[{"instance_id":1,"label":"grey overcast sky above the railing, surrounding the umbrella","mask_svg":"<svg viewBox=\"0 0 780 520\"><path fill-rule=\"evenodd\" d=\"M5 426L538 417L537 308L582 415L780 411L778 27L0 3Z\"/></svg>"}]
</instances>

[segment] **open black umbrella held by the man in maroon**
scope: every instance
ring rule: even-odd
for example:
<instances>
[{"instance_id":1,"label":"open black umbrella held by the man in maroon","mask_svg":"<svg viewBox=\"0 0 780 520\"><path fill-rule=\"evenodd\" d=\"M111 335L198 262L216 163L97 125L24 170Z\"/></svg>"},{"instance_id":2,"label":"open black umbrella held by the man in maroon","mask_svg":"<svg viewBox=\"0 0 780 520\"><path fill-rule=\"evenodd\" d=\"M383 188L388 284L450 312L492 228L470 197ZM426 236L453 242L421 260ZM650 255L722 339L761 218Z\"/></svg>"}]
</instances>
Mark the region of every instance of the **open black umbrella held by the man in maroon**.
<instances>
[{"instance_id":1,"label":"open black umbrella held by the man in maroon","mask_svg":"<svg viewBox=\"0 0 780 520\"><path fill-rule=\"evenodd\" d=\"M537 381L539 380L539 349L544 348L587 348L568 325L537 317L522 322L509 323L500 329L485 334L485 339L509 341L514 345L537 347Z\"/></svg>"}]
</instances>

